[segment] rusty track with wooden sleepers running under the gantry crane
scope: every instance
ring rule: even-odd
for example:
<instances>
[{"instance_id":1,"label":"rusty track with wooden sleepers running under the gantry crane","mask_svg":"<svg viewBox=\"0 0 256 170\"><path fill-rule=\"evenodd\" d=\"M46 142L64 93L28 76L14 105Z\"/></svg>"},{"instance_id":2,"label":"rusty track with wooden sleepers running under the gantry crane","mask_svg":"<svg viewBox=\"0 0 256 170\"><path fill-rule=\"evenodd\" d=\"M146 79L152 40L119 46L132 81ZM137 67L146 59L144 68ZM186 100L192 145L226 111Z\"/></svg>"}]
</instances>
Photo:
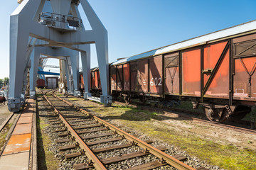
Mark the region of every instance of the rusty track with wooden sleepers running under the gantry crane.
<instances>
[{"instance_id":1,"label":"rusty track with wooden sleepers running under the gantry crane","mask_svg":"<svg viewBox=\"0 0 256 170\"><path fill-rule=\"evenodd\" d=\"M41 91L42 92L42 91ZM74 164L74 169L111 169L112 164L134 159L137 157L151 156L151 162L144 162L139 166L130 165L129 169L154 169L162 166L171 166L176 169L194 169L183 161L182 155L170 156L163 152L164 147L152 147L151 141L142 141L105 120L102 120L87 111L74 106L53 94L46 96L46 101L53 107L55 114L50 118L50 123L55 127L55 132L61 139L56 142L60 151L71 150L65 154L65 159L72 159L86 155L85 163ZM104 144L104 145L103 145ZM134 152L122 153L119 151L133 147ZM79 149L77 149L79 148ZM105 157L105 154L114 154ZM205 169L203 167L199 169Z\"/></svg>"}]
</instances>

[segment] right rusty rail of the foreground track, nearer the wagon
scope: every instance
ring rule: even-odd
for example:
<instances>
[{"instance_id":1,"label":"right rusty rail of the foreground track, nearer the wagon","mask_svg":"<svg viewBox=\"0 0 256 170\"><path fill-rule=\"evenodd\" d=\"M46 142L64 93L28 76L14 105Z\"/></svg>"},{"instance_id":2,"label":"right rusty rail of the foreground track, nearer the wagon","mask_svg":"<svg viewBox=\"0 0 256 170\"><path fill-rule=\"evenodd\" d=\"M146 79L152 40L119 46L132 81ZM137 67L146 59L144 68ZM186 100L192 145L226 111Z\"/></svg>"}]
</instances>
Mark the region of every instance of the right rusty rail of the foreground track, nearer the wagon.
<instances>
[{"instance_id":1,"label":"right rusty rail of the foreground track, nearer the wagon","mask_svg":"<svg viewBox=\"0 0 256 170\"><path fill-rule=\"evenodd\" d=\"M184 164L183 162L179 161L178 159L176 159L174 157L171 157L169 154L166 154L166 153L162 152L161 150L156 149L155 147L152 147L151 145L148 145L146 142L143 142L142 140L137 139L137 137L129 135L129 133L124 132L123 130L120 130L119 128L115 127L114 125L111 125L110 123L107 123L105 120L97 118L95 115L92 115L92 113L89 113L89 112L83 110L82 108L79 108L79 107L75 106L73 103L65 101L65 99L60 98L60 97L56 96L55 94L53 94L53 96L58 98L60 101L64 101L69 106L73 106L76 109L78 109L79 111L81 111L83 113L86 113L87 115L92 116L92 118L95 118L95 120L98 120L100 123L103 123L103 124L107 125L108 128L110 128L114 132L117 132L117 134L119 134L121 136L124 136L127 140L129 140L132 143L138 145L139 147L142 147L144 149L144 152L149 152L149 153L153 154L154 156L158 157L160 159L161 163L163 163L163 164L167 163L171 166L174 166L176 169L196 170L193 167L188 166L187 164Z\"/></svg>"}]
</instances>

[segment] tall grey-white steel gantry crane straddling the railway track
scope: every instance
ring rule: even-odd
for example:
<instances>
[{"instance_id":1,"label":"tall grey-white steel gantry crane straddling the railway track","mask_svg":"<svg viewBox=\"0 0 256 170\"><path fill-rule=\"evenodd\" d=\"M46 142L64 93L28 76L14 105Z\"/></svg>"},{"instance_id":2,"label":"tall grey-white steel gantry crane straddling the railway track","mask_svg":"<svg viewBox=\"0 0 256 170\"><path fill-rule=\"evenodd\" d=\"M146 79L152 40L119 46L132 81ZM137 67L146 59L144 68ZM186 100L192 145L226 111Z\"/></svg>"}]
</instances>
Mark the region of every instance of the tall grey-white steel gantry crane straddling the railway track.
<instances>
[{"instance_id":1,"label":"tall grey-white steel gantry crane straddling the railway track","mask_svg":"<svg viewBox=\"0 0 256 170\"><path fill-rule=\"evenodd\" d=\"M10 23L10 94L9 110L19 111L25 101L24 86L30 70L30 93L35 95L36 75L41 55L58 58L73 78L72 93L79 85L79 52L84 77L84 98L90 98L90 44L95 43L100 67L102 96L100 101L112 102L109 95L107 30L87 0L24 0L11 14ZM51 8L46 7L50 4ZM92 30L85 30L78 6L82 6ZM68 69L70 61L71 70ZM69 80L70 81L70 80Z\"/></svg>"}]
</instances>

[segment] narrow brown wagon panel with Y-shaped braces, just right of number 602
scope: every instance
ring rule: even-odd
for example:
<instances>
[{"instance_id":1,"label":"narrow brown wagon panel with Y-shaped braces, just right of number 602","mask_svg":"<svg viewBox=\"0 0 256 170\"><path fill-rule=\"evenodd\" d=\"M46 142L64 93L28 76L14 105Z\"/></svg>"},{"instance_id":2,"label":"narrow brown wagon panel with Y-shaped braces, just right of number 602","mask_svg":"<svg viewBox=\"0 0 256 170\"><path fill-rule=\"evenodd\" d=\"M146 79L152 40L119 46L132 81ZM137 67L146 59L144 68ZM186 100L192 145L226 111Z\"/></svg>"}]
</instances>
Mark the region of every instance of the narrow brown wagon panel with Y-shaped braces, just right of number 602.
<instances>
[{"instance_id":1,"label":"narrow brown wagon panel with Y-shaped braces, just right of number 602","mask_svg":"<svg viewBox=\"0 0 256 170\"><path fill-rule=\"evenodd\" d=\"M178 52L164 56L165 93L179 94Z\"/></svg>"}]
</instances>

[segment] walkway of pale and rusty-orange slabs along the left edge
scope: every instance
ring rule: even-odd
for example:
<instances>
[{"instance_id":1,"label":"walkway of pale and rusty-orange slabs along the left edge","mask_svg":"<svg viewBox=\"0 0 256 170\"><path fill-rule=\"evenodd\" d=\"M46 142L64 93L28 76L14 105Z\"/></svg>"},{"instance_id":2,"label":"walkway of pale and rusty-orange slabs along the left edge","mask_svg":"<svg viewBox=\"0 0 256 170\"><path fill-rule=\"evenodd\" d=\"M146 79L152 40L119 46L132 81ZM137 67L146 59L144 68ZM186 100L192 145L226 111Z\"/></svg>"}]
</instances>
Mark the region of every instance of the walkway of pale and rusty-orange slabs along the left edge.
<instances>
[{"instance_id":1,"label":"walkway of pale and rusty-orange slabs along the left edge","mask_svg":"<svg viewBox=\"0 0 256 170\"><path fill-rule=\"evenodd\" d=\"M32 99L28 99L27 104L28 106L23 113L21 113L21 117L18 119L14 132L1 155L0 169L28 169L29 155L31 152L31 130L33 115L36 114L36 104Z\"/></svg>"}]
</instances>

